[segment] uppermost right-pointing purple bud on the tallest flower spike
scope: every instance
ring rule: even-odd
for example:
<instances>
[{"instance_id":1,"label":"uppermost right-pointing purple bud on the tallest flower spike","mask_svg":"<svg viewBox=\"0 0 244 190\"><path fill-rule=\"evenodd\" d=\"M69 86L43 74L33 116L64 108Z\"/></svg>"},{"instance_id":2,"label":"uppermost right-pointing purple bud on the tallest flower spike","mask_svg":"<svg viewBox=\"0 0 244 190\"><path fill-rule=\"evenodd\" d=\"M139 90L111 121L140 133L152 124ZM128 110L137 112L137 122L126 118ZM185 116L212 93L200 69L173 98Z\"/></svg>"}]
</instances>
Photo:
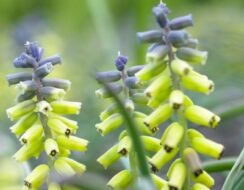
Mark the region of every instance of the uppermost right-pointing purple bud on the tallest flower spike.
<instances>
[{"instance_id":1,"label":"uppermost right-pointing purple bud on the tallest flower spike","mask_svg":"<svg viewBox=\"0 0 244 190\"><path fill-rule=\"evenodd\" d=\"M193 26L192 15L186 15L177 17L169 22L169 26L172 30L180 30L189 26Z\"/></svg>"}]
</instances>

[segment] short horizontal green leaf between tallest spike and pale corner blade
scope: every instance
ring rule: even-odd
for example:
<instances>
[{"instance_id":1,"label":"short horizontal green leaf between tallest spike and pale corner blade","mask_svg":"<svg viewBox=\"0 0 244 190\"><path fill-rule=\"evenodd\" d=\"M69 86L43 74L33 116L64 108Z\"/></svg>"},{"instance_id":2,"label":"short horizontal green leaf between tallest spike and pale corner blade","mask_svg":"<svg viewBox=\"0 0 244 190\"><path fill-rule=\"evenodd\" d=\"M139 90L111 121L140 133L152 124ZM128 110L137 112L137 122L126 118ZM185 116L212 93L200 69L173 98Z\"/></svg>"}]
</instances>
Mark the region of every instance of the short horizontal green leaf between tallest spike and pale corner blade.
<instances>
[{"instance_id":1,"label":"short horizontal green leaf between tallest spike and pale corner blade","mask_svg":"<svg viewBox=\"0 0 244 190\"><path fill-rule=\"evenodd\" d=\"M221 160L203 162L203 169L208 173L229 171L234 166L237 158L224 158ZM244 166L242 167L244 169Z\"/></svg>"}]
</instances>

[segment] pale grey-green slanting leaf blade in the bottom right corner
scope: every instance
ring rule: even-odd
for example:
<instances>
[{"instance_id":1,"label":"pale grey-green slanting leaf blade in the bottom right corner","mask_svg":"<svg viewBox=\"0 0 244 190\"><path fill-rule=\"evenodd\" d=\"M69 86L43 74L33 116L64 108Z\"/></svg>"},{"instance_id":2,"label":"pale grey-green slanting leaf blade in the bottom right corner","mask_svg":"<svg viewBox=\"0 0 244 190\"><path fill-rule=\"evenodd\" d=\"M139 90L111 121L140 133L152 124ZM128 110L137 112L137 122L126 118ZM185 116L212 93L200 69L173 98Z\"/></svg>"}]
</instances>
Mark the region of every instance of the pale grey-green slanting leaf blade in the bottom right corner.
<instances>
[{"instance_id":1,"label":"pale grey-green slanting leaf blade in the bottom right corner","mask_svg":"<svg viewBox=\"0 0 244 190\"><path fill-rule=\"evenodd\" d=\"M229 175L227 176L224 185L222 187L222 190L230 190L233 188L236 177L239 173L239 171L244 166L244 148L242 149L238 159L236 160L234 166L232 167Z\"/></svg>"}]
</instances>

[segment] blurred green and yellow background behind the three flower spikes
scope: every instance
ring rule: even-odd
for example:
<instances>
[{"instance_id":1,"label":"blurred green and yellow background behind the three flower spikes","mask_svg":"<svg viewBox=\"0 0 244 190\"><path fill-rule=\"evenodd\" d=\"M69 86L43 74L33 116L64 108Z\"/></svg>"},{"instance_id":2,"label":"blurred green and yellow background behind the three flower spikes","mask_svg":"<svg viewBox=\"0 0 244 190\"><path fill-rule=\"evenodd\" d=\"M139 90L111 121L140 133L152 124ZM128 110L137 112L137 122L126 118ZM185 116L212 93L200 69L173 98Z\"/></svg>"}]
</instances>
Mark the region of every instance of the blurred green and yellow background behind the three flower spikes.
<instances>
[{"instance_id":1,"label":"blurred green and yellow background behind the three flower spikes","mask_svg":"<svg viewBox=\"0 0 244 190\"><path fill-rule=\"evenodd\" d=\"M79 135L91 143L84 155L74 157L87 164L88 172L71 183L83 189L106 189L106 181L122 164L105 171L95 160L117 140L117 132L101 137L94 125L106 101L95 97L98 88L95 71L114 69L117 51L128 55L129 65L143 64L147 45L140 45L136 32L156 28L151 8L158 0L0 0L0 189L19 190L23 167L11 156L19 148L10 133L11 122L5 110L14 105L16 91L8 87L5 76L17 72L12 60L23 51L23 44L38 41L45 56L60 53L63 65L52 76L72 81L67 99L81 101L83 109L75 117ZM207 65L197 68L216 83L210 96L191 94L199 105L212 110L232 108L244 103L244 1L243 0L167 0L171 17L192 13L195 27L189 31L209 51ZM215 130L201 129L209 138L226 146L224 156L234 156L243 147L243 115L224 120ZM204 158L203 158L204 159ZM32 161L30 165L35 164ZM220 189L224 174L214 175ZM94 181L96 183L94 183ZM71 189L71 188L70 188ZM78 188L78 189L81 189Z\"/></svg>"}]
</instances>

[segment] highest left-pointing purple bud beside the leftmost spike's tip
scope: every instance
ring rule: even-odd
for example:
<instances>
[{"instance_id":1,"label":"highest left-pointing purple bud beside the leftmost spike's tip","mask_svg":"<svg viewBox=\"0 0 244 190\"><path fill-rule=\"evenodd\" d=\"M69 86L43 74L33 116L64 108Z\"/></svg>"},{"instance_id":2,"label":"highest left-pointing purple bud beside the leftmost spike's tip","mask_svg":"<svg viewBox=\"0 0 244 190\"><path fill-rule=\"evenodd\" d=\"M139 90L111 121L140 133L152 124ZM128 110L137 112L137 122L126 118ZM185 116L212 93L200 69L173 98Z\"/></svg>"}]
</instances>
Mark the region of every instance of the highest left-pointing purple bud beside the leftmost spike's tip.
<instances>
[{"instance_id":1,"label":"highest left-pointing purple bud beside the leftmost spike's tip","mask_svg":"<svg viewBox=\"0 0 244 190\"><path fill-rule=\"evenodd\" d=\"M13 64L16 68L32 68L37 63L31 56L21 53L19 57L14 59Z\"/></svg>"}]
</instances>

